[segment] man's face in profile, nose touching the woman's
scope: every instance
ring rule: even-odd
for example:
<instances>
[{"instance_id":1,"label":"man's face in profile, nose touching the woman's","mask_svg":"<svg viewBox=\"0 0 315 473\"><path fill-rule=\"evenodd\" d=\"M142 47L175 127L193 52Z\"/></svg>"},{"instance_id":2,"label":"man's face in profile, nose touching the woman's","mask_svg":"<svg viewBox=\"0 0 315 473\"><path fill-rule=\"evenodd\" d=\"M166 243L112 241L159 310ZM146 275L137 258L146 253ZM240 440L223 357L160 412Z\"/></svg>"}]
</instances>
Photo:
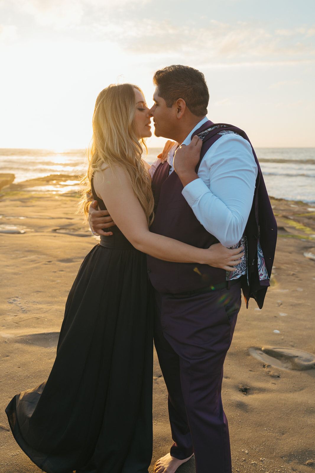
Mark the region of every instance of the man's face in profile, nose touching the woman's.
<instances>
[{"instance_id":1,"label":"man's face in profile, nose touching the woman's","mask_svg":"<svg viewBox=\"0 0 315 473\"><path fill-rule=\"evenodd\" d=\"M153 101L154 105L150 109L150 114L153 116L155 136L172 138L172 130L177 122L175 106L166 106L164 98L158 95L158 88L155 89L153 94Z\"/></svg>"}]
</instances>

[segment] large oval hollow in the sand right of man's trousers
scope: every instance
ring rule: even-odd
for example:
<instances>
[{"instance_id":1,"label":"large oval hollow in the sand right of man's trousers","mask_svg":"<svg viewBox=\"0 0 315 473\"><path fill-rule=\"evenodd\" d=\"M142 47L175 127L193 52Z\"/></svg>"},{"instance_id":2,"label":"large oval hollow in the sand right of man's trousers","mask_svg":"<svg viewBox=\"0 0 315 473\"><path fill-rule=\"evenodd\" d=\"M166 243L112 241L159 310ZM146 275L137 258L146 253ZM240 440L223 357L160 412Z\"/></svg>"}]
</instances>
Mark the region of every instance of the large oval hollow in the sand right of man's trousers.
<instances>
[{"instance_id":1,"label":"large oval hollow in the sand right of man's trousers","mask_svg":"<svg viewBox=\"0 0 315 473\"><path fill-rule=\"evenodd\" d=\"M280 369L306 370L315 369L315 355L295 348L251 347L249 353L254 358Z\"/></svg>"}]
</instances>

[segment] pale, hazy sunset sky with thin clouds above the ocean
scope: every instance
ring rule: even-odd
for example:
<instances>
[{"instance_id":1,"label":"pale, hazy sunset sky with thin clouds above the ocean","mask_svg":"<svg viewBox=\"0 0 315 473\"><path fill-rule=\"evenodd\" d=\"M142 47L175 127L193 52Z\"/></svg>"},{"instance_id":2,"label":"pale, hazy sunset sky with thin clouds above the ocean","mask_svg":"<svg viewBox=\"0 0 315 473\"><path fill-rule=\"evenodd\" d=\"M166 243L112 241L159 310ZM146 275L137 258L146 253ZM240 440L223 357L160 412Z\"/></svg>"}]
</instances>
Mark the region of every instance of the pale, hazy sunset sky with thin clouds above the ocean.
<instances>
[{"instance_id":1,"label":"pale, hazy sunset sky with thin clouds above the ocean","mask_svg":"<svg viewBox=\"0 0 315 473\"><path fill-rule=\"evenodd\" d=\"M103 88L151 106L170 64L201 70L208 118L254 146L315 147L314 0L0 0L0 148L85 148Z\"/></svg>"}]
</instances>

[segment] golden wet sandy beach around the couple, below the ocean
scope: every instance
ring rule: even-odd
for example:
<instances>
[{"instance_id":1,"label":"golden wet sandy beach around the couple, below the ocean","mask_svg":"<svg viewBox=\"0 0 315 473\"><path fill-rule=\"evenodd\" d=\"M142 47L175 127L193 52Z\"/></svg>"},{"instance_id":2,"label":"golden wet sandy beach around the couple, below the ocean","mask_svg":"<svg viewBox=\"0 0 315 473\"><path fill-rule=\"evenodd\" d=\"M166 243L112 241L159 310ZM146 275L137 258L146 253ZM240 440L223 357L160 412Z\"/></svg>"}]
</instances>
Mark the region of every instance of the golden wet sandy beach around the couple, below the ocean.
<instances>
[{"instance_id":1,"label":"golden wet sandy beach around the couple, below the ocean","mask_svg":"<svg viewBox=\"0 0 315 473\"><path fill-rule=\"evenodd\" d=\"M68 292L98 241L75 213L73 179L53 175L0 190L1 473L41 471L16 444L4 409L48 377ZM225 363L233 473L315 470L315 208L271 203L279 229L271 288L262 310L253 299L243 304ZM172 443L156 354L153 422L150 472ZM193 460L178 471L194 472Z\"/></svg>"}]
</instances>

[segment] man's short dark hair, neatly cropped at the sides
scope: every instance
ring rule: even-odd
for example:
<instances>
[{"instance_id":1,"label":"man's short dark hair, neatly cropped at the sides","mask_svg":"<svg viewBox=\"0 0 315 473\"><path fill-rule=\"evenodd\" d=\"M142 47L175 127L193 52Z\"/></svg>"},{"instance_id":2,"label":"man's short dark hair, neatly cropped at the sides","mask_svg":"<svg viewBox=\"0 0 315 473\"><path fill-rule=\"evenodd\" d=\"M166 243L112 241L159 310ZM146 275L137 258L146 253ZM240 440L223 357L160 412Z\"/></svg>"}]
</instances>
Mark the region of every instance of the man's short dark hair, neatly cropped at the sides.
<instances>
[{"instance_id":1,"label":"man's short dark hair, neatly cropped at the sides","mask_svg":"<svg viewBox=\"0 0 315 473\"><path fill-rule=\"evenodd\" d=\"M181 65L166 66L154 74L153 84L167 107L182 98L192 114L198 117L207 114L209 91L204 75L199 70Z\"/></svg>"}]
</instances>

